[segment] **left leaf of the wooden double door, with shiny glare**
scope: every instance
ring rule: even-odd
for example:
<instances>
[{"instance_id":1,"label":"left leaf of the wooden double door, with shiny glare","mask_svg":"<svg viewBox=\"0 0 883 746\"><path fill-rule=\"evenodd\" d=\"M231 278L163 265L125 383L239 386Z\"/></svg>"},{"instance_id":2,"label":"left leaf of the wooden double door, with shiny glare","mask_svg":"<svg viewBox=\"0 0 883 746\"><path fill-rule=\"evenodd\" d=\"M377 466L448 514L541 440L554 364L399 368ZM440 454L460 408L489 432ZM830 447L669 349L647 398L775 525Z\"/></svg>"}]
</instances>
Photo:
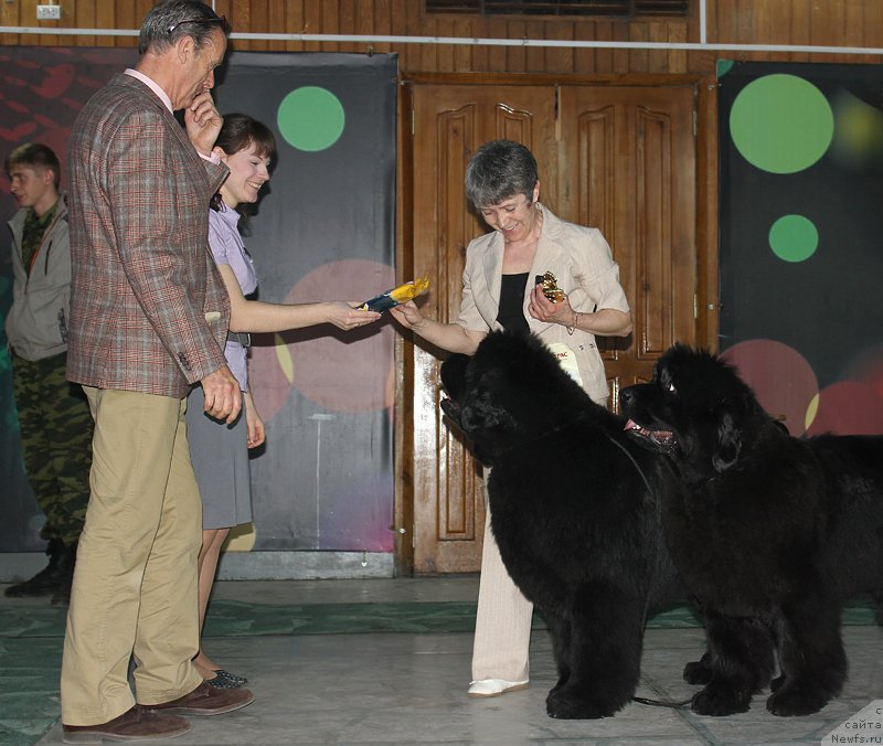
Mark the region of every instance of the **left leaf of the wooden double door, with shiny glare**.
<instances>
[{"instance_id":1,"label":"left leaf of the wooden double door, with shiny glare","mask_svg":"<svg viewBox=\"0 0 883 746\"><path fill-rule=\"evenodd\" d=\"M554 98L539 86L434 86L414 90L414 271L432 288L424 313L457 319L466 246L487 226L468 209L464 173L476 148L524 142L554 174ZM554 186L553 186L554 189ZM485 504L480 466L442 420L438 350L414 354L414 569L476 572Z\"/></svg>"}]
</instances>

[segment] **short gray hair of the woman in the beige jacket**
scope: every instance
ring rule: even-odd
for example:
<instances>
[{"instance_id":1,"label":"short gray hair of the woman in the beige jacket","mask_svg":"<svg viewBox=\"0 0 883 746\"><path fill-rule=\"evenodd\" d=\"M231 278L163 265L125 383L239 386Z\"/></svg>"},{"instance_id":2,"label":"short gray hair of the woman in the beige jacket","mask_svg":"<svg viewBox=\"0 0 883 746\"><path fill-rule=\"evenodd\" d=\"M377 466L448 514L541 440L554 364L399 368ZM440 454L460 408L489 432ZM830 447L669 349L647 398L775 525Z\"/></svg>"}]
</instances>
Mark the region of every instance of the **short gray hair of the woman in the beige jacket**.
<instances>
[{"instance_id":1,"label":"short gray hair of the woman in the beige jacket","mask_svg":"<svg viewBox=\"0 0 883 746\"><path fill-rule=\"evenodd\" d=\"M536 159L528 148L512 140L491 140L466 166L466 199L475 207L500 204L515 194L532 202L539 179Z\"/></svg>"}]
</instances>

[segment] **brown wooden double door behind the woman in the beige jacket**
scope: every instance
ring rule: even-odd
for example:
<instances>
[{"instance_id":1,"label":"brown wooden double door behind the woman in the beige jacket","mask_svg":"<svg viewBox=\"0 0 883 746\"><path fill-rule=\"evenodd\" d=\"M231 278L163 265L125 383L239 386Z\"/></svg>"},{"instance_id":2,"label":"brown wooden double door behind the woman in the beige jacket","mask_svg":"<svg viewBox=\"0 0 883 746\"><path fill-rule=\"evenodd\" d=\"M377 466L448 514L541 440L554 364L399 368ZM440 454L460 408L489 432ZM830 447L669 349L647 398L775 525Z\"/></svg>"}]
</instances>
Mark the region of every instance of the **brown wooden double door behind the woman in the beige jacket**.
<instances>
[{"instance_id":1,"label":"brown wooden double door behind the woman in the beige jacket","mask_svg":"<svg viewBox=\"0 0 883 746\"><path fill-rule=\"evenodd\" d=\"M540 200L600 228L619 264L635 330L599 339L615 406L621 386L649 380L675 340L694 339L695 136L692 85L414 84L413 265L432 278L424 311L457 318L467 244L488 227L468 209L466 163L482 142L523 142L540 169ZM413 407L404 452L413 500L415 574L476 572L485 504L481 469L442 419L440 358L406 344ZM413 426L413 431L411 427Z\"/></svg>"}]
</instances>

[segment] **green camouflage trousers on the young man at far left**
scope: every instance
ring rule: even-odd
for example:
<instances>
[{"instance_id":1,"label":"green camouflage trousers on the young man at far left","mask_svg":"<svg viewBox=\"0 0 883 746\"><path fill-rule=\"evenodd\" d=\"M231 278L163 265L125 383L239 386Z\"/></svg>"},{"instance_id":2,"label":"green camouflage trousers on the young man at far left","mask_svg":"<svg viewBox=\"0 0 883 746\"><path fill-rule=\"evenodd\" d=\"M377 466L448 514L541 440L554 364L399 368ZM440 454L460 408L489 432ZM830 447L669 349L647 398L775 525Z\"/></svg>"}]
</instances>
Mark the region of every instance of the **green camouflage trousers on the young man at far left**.
<instances>
[{"instance_id":1,"label":"green camouflage trousers on the young man at far left","mask_svg":"<svg viewBox=\"0 0 883 746\"><path fill-rule=\"evenodd\" d=\"M12 355L12 385L40 532L65 546L78 541L89 501L93 420L79 384L65 377L67 353L30 361Z\"/></svg>"}]
</instances>

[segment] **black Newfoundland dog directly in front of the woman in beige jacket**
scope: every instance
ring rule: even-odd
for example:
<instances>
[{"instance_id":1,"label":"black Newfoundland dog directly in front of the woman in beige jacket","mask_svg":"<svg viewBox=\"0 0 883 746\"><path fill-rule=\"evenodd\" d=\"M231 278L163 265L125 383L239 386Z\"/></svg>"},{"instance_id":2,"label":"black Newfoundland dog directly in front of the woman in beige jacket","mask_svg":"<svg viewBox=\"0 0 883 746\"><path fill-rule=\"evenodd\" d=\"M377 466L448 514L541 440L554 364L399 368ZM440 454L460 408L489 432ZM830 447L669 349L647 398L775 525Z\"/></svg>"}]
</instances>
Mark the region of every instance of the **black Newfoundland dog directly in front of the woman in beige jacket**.
<instances>
[{"instance_id":1,"label":"black Newfoundland dog directly in front of the woman in beige jacket","mask_svg":"<svg viewBox=\"0 0 883 746\"><path fill-rule=\"evenodd\" d=\"M445 413L492 467L503 563L551 630L560 678L546 711L613 715L635 695L648 611L684 598L659 524L675 470L534 337L492 332L475 355L448 358L442 381Z\"/></svg>"}]
</instances>

